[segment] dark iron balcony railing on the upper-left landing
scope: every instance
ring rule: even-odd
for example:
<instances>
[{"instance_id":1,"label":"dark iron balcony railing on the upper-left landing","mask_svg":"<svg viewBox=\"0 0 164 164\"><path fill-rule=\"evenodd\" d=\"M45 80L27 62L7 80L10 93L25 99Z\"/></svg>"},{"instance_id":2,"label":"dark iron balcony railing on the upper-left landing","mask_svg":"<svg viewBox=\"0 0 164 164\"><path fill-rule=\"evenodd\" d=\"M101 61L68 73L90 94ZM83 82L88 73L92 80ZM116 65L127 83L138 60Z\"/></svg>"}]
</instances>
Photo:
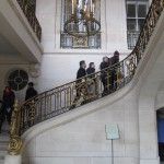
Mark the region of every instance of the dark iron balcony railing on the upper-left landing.
<instances>
[{"instance_id":1,"label":"dark iron balcony railing on the upper-left landing","mask_svg":"<svg viewBox=\"0 0 164 164\"><path fill-rule=\"evenodd\" d=\"M37 21L33 7L28 2L28 0L16 0L20 4L24 15L26 16L28 23L31 24L35 35L37 36L38 40L42 39L42 27Z\"/></svg>"}]
</instances>

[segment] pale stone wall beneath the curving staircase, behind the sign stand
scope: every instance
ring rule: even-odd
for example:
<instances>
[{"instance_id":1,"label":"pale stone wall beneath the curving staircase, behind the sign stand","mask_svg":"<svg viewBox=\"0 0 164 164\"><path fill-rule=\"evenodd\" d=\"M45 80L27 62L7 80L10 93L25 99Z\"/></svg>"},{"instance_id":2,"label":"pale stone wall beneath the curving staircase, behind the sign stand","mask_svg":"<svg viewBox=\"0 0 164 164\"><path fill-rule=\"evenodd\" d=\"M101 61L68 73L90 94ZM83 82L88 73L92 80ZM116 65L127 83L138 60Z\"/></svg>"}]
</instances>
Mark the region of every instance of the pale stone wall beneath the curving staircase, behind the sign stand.
<instances>
[{"instance_id":1,"label":"pale stone wall beneath the curving staircase, behind the sign stand","mask_svg":"<svg viewBox=\"0 0 164 164\"><path fill-rule=\"evenodd\" d=\"M118 124L119 127L120 139L114 140L115 164L138 164L138 93L133 90L121 99L116 95L117 101L107 96L69 112L63 116L67 120L60 126L55 121L62 119L62 116L47 122L51 127L49 130L43 124L38 128L42 131L35 137L33 133L37 130L30 132L33 140L24 148L24 164L110 164L112 141L106 140L105 134L107 124ZM81 114L74 117L78 113ZM69 120L69 117L74 118ZM27 140L28 137L25 134L25 138Z\"/></svg>"}]
</instances>

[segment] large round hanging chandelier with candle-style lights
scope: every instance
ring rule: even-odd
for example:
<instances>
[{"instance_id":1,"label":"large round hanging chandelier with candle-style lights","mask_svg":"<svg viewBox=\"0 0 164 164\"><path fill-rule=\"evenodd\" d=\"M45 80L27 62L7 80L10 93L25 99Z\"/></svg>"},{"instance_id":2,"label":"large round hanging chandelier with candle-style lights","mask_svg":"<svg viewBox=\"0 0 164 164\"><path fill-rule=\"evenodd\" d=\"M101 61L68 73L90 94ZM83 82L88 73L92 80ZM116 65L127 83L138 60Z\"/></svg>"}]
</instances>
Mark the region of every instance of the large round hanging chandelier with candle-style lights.
<instances>
[{"instance_id":1,"label":"large round hanging chandelier with candle-style lights","mask_svg":"<svg viewBox=\"0 0 164 164\"><path fill-rule=\"evenodd\" d=\"M101 23L95 19L96 0L70 0L71 16L65 22L65 32L69 35L86 37L95 35L101 30Z\"/></svg>"}]
</instances>

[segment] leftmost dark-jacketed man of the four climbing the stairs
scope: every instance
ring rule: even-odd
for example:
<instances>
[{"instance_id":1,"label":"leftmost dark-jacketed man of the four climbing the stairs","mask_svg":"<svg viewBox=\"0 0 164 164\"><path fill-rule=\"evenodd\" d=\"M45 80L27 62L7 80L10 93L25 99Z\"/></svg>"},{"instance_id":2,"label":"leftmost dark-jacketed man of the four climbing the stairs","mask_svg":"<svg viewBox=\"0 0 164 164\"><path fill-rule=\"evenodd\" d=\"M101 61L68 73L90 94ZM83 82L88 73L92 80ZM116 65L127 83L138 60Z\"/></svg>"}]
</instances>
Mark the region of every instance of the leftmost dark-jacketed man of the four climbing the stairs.
<instances>
[{"instance_id":1,"label":"leftmost dark-jacketed man of the four climbing the stairs","mask_svg":"<svg viewBox=\"0 0 164 164\"><path fill-rule=\"evenodd\" d=\"M78 101L81 97L81 94L82 94L82 91L83 91L83 84L82 84L82 82L85 81L85 79L82 79L82 78L86 75L86 71L85 71L86 63L85 63L85 61L82 60L82 61L80 61L79 65L80 65L80 68L78 70L78 72L77 72L77 81L75 81L77 96L73 99L73 104L72 104L72 106L71 106L70 109L72 109L72 108L75 107ZM84 104L84 102L85 102L85 97L83 97L82 104Z\"/></svg>"}]
</instances>

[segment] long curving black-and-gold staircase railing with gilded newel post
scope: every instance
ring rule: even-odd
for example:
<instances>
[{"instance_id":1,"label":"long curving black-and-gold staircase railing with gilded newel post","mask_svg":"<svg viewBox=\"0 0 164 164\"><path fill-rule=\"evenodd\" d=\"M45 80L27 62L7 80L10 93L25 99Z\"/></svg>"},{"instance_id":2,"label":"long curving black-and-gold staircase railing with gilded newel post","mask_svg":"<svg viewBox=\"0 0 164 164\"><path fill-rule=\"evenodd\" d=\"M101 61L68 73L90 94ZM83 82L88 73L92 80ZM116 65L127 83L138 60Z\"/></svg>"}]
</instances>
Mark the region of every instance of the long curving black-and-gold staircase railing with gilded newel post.
<instances>
[{"instance_id":1,"label":"long curving black-and-gold staircase railing with gilded newel post","mask_svg":"<svg viewBox=\"0 0 164 164\"><path fill-rule=\"evenodd\" d=\"M152 2L137 45L126 59L92 75L44 92L25 102L19 110L15 108L12 125L16 126L17 130L11 131L9 144L15 147L9 147L12 148L9 151L14 154L19 151L13 149L21 145L19 137L34 125L102 98L128 84L134 75L163 8L164 0ZM103 75L106 81L105 87L101 81Z\"/></svg>"}]
</instances>

